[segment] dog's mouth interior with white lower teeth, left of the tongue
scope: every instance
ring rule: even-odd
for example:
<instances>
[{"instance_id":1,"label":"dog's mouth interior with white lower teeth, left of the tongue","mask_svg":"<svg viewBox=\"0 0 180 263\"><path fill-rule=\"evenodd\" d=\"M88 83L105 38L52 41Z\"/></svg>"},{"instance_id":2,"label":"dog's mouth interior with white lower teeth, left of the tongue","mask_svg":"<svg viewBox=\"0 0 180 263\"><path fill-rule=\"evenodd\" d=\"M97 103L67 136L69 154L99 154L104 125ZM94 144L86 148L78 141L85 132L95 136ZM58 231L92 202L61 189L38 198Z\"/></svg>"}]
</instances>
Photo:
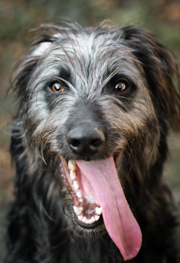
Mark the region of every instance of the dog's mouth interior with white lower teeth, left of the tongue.
<instances>
[{"instance_id":1,"label":"dog's mouth interior with white lower teeth, left of the tongue","mask_svg":"<svg viewBox=\"0 0 180 263\"><path fill-rule=\"evenodd\" d=\"M76 161L68 163L62 158L65 175L64 183L73 197L74 218L77 224L86 229L93 229L100 225L102 220L102 207L94 200L92 188L83 176Z\"/></svg>"}]
</instances>

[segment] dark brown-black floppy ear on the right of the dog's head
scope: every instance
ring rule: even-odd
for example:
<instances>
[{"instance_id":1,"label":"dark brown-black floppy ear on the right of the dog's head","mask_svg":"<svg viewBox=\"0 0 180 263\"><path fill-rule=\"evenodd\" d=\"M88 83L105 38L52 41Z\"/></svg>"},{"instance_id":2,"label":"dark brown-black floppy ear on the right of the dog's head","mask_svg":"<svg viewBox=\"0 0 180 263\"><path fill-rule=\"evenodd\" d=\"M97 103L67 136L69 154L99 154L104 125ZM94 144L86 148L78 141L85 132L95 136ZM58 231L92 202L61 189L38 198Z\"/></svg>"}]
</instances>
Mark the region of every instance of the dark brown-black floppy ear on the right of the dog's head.
<instances>
[{"instance_id":1,"label":"dark brown-black floppy ear on the right of the dog's head","mask_svg":"<svg viewBox=\"0 0 180 263\"><path fill-rule=\"evenodd\" d=\"M174 54L143 29L124 27L122 38L142 63L157 115L180 131L179 68Z\"/></svg>"}]
</instances>

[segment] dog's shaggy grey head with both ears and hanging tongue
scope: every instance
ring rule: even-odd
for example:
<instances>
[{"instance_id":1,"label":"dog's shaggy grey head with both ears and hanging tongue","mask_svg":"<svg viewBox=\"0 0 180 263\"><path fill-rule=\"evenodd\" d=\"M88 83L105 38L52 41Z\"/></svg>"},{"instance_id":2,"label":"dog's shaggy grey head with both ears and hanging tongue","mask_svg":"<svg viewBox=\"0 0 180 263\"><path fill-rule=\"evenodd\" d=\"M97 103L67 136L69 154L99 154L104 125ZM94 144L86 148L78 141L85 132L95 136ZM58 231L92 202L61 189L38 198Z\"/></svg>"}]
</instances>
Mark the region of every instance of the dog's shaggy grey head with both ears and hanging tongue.
<instances>
[{"instance_id":1,"label":"dog's shaggy grey head with both ears and hanging tongue","mask_svg":"<svg viewBox=\"0 0 180 263\"><path fill-rule=\"evenodd\" d=\"M151 169L165 159L160 145L169 125L179 129L176 62L134 27L48 30L13 80L23 144L27 156L34 154L30 174L43 159L52 174L62 175L78 231L101 231L104 222L124 259L131 259L142 237L130 199L138 199Z\"/></svg>"}]
</instances>

